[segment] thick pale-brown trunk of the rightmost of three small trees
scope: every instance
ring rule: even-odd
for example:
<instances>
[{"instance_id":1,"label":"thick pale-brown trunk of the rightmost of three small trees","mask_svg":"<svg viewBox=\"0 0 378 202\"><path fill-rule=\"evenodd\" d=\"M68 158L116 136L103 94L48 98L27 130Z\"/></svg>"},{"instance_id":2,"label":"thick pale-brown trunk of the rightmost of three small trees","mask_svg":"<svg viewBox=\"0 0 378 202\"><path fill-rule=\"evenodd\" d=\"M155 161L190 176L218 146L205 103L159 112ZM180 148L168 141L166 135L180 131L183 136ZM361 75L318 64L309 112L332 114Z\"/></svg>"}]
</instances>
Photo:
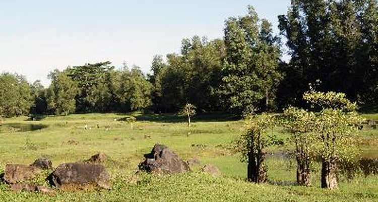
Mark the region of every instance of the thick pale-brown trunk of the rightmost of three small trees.
<instances>
[{"instance_id":1,"label":"thick pale-brown trunk of the rightmost of three small trees","mask_svg":"<svg viewBox=\"0 0 378 202\"><path fill-rule=\"evenodd\" d=\"M322 162L322 188L337 189L336 161L323 160Z\"/></svg>"}]
</instances>

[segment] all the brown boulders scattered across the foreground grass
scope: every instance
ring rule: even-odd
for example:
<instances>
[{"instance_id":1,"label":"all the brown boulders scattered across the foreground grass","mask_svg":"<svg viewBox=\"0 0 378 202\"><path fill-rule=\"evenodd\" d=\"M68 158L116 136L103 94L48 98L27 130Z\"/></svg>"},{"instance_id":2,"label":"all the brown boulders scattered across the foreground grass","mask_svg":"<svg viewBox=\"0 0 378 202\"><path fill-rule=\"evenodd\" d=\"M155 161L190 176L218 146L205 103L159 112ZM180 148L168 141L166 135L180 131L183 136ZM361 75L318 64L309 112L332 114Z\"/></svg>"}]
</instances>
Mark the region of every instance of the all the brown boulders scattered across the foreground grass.
<instances>
[{"instance_id":1,"label":"all the brown boulders scattered across the foreground grass","mask_svg":"<svg viewBox=\"0 0 378 202\"><path fill-rule=\"evenodd\" d=\"M144 157L146 159L138 166L140 171L161 174L190 171L188 163L182 161L165 145L155 144L151 153L145 154ZM45 180L50 186L60 190L87 190L96 187L109 189L109 173L100 164L105 160L106 155L99 153L83 163L60 164L45 177ZM199 160L196 163L199 163ZM9 164L5 168L2 180L9 184L13 191L54 193L54 189L50 187L30 183L41 175L43 170L52 170L52 163L46 158L37 159L31 165ZM211 165L206 165L202 171L220 174L219 169Z\"/></svg>"}]
</instances>

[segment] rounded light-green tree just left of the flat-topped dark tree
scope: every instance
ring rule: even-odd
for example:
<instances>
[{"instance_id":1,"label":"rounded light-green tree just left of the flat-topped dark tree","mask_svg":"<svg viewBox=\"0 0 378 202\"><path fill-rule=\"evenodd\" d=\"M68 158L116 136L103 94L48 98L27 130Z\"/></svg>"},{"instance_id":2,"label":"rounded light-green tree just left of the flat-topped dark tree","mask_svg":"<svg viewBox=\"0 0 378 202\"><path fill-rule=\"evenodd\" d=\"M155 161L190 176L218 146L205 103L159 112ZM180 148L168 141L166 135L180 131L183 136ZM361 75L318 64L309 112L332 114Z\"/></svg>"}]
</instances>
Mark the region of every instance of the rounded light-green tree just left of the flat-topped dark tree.
<instances>
[{"instance_id":1,"label":"rounded light-green tree just left of the flat-topped dark tree","mask_svg":"<svg viewBox=\"0 0 378 202\"><path fill-rule=\"evenodd\" d=\"M54 70L49 74L51 84L47 89L47 106L55 115L68 115L75 112L78 93L76 83L66 72Z\"/></svg>"}]
</instances>

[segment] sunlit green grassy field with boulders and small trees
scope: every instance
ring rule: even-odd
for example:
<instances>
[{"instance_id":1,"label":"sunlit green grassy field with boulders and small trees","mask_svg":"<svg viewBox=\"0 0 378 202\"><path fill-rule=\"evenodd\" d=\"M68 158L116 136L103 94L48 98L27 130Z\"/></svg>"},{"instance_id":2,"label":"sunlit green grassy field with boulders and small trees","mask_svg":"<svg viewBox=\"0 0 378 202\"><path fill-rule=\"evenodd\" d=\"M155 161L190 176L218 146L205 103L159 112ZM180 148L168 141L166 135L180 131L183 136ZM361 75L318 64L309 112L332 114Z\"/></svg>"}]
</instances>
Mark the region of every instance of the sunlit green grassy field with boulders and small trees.
<instances>
[{"instance_id":1,"label":"sunlit green grassy field with boulders and small trees","mask_svg":"<svg viewBox=\"0 0 378 202\"><path fill-rule=\"evenodd\" d=\"M296 186L296 162L278 152L290 148L289 145L270 149L269 154L274 155L268 155L267 159L268 183L246 182L246 165L231 149L231 142L243 132L243 121L224 115L197 116L192 127L186 127L184 120L174 115L136 116L133 128L119 121L127 115L118 114L46 117L41 121L26 121L26 117L3 120L0 171L7 164L30 164L39 157L49 158L56 167L103 152L108 156L104 165L111 175L112 188L46 195L12 192L8 185L0 183L0 201L378 201L377 175L357 176L352 181L341 177L339 190L329 191L319 188L320 174L314 166L312 187ZM36 124L41 129L22 132L10 129L14 124ZM84 129L86 124L90 130ZM110 129L105 130L106 126ZM288 135L281 130L276 128L274 132L286 141ZM364 153L377 155L378 130L363 130L360 138ZM183 174L135 174L143 154L149 153L155 143L167 145L183 160L196 158L201 164ZM205 164L216 165L222 175L200 172Z\"/></svg>"}]
</instances>

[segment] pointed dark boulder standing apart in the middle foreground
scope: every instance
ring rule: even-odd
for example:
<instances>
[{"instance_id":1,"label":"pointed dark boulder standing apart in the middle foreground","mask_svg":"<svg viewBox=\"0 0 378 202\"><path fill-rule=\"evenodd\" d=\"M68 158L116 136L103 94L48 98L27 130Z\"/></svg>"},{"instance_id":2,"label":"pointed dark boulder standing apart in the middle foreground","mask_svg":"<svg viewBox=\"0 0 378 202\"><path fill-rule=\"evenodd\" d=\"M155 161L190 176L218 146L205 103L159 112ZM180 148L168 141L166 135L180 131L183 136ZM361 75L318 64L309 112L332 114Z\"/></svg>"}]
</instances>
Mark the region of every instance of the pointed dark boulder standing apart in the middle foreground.
<instances>
[{"instance_id":1,"label":"pointed dark boulder standing apart in the middle foreground","mask_svg":"<svg viewBox=\"0 0 378 202\"><path fill-rule=\"evenodd\" d=\"M188 165L167 146L155 144L145 161L138 165L139 170L158 173L179 173L189 171Z\"/></svg>"}]
</instances>

